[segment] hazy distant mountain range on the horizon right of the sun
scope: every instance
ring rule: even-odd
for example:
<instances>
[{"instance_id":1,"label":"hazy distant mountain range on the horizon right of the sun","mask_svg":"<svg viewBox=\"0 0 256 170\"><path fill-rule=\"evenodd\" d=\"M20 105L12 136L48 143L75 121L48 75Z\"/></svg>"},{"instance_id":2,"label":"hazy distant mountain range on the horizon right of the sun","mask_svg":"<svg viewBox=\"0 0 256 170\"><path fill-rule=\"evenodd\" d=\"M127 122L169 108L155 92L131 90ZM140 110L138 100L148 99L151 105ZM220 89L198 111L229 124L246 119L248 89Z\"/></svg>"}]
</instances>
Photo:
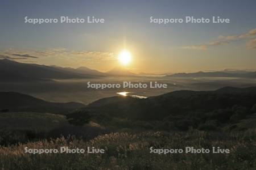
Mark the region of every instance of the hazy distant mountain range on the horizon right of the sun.
<instances>
[{"instance_id":1,"label":"hazy distant mountain range on the horizon right of the sun","mask_svg":"<svg viewBox=\"0 0 256 170\"><path fill-rule=\"evenodd\" d=\"M166 75L166 77L237 77L237 78L256 78L256 71L213 71L203 72L199 71L196 73L176 73L172 75Z\"/></svg>"}]
</instances>

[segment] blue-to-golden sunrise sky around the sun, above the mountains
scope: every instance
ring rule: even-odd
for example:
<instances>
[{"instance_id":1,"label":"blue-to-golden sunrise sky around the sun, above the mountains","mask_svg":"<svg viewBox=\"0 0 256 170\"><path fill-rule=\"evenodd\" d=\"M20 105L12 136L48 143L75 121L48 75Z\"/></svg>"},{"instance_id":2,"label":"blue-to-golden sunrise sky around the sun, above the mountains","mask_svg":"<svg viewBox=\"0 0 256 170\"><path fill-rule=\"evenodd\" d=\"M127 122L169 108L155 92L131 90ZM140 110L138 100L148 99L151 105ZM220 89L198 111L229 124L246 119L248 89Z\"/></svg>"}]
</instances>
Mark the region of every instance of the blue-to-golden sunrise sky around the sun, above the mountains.
<instances>
[{"instance_id":1,"label":"blue-to-golden sunrise sky around the sun, above the mountains","mask_svg":"<svg viewBox=\"0 0 256 170\"><path fill-rule=\"evenodd\" d=\"M135 73L256 70L256 1L1 0L0 59L108 71L129 50ZM104 23L24 23L28 18L104 18ZM150 23L212 18L230 23Z\"/></svg>"}]
</instances>

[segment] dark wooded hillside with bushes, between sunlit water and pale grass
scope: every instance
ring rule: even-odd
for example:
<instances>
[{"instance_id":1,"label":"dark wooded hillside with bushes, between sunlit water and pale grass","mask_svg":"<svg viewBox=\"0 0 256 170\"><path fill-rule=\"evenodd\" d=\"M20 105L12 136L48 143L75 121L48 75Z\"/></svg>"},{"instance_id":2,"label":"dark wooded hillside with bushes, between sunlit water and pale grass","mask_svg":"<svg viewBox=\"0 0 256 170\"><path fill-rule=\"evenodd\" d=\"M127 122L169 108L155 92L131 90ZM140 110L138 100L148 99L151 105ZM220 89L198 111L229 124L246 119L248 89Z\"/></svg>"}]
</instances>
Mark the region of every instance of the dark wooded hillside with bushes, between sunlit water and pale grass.
<instances>
[{"instance_id":1,"label":"dark wooded hillside with bushes, between sunlit water and pale grass","mask_svg":"<svg viewBox=\"0 0 256 170\"><path fill-rule=\"evenodd\" d=\"M67 118L75 125L92 120L133 130L242 130L246 127L240 124L254 120L254 113L256 87L225 87L216 91L175 91L147 99L109 97L77 109Z\"/></svg>"}]
</instances>

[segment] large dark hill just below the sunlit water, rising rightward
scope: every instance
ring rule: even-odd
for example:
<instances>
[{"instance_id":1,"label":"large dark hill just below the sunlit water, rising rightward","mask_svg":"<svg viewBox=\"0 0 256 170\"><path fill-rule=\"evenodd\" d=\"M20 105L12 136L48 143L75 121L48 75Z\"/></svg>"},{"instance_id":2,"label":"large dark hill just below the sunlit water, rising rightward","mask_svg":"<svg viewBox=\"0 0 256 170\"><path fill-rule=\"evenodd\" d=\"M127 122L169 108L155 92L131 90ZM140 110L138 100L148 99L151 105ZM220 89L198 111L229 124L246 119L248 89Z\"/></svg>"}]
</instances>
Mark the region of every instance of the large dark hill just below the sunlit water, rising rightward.
<instances>
[{"instance_id":1,"label":"large dark hill just below the sunlit water, rising rightward","mask_svg":"<svg viewBox=\"0 0 256 170\"><path fill-rule=\"evenodd\" d=\"M147 99L109 97L97 100L80 111L81 114L89 113L101 118L107 116L175 122L189 120L195 124L207 120L220 124L237 121L253 112L256 112L256 87L224 87L216 91L182 90Z\"/></svg>"}]
</instances>

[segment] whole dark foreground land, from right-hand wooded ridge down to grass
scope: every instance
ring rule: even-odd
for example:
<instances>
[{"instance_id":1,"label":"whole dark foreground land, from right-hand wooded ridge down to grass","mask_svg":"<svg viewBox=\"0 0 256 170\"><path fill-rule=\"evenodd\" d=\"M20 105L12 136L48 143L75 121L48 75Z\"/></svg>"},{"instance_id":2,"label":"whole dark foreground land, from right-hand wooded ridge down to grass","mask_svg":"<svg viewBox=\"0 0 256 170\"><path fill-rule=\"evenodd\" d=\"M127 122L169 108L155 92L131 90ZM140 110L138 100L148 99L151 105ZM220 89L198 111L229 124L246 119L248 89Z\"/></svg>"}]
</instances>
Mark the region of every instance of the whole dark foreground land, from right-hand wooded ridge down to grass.
<instances>
[{"instance_id":1,"label":"whole dark foreground land, from right-hand wooded ridge down to grass","mask_svg":"<svg viewBox=\"0 0 256 170\"><path fill-rule=\"evenodd\" d=\"M69 114L0 114L2 169L256 169L256 88L110 97ZM34 122L34 123L32 123ZM104 148L105 154L27 154L28 148ZM228 148L229 154L154 154Z\"/></svg>"}]
</instances>

